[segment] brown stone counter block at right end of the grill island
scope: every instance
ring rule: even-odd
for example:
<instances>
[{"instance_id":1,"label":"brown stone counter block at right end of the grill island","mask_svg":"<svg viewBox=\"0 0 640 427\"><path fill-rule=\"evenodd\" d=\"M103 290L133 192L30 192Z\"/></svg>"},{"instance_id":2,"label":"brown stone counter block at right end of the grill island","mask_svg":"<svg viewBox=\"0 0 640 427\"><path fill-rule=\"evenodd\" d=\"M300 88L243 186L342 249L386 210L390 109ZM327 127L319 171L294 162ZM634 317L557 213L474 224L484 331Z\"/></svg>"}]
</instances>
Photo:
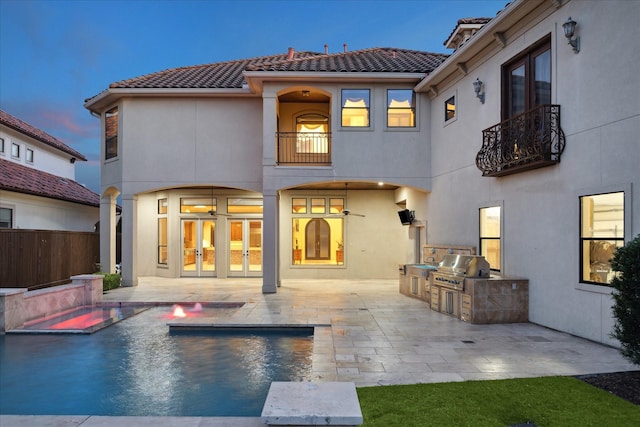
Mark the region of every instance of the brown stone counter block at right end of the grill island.
<instances>
[{"instance_id":1,"label":"brown stone counter block at right end of the grill island","mask_svg":"<svg viewBox=\"0 0 640 427\"><path fill-rule=\"evenodd\" d=\"M470 323L529 321L529 280L491 274L464 280L460 319Z\"/></svg>"}]
</instances>

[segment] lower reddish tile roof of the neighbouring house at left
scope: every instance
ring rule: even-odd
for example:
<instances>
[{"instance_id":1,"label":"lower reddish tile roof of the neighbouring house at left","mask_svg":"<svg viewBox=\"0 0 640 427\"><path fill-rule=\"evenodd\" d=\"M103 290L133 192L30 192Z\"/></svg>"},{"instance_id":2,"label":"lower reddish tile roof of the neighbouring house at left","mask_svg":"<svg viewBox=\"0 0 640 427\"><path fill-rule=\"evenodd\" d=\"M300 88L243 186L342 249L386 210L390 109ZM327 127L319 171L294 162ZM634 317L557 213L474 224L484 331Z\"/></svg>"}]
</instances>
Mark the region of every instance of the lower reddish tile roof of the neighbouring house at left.
<instances>
[{"instance_id":1,"label":"lower reddish tile roof of the neighbouring house at left","mask_svg":"<svg viewBox=\"0 0 640 427\"><path fill-rule=\"evenodd\" d=\"M100 206L100 196L76 181L0 159L0 190Z\"/></svg>"}]
</instances>

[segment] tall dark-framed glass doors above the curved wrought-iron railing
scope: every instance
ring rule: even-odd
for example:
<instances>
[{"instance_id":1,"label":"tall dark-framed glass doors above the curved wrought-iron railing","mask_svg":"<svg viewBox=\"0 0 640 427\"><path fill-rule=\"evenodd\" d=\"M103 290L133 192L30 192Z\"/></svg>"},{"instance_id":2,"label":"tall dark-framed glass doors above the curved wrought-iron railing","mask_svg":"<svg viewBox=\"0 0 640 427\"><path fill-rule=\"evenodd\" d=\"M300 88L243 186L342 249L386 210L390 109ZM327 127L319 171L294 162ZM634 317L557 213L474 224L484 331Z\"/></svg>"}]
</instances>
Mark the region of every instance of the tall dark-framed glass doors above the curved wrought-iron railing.
<instances>
[{"instance_id":1,"label":"tall dark-framed glass doors above the curved wrought-iron railing","mask_svg":"<svg viewBox=\"0 0 640 427\"><path fill-rule=\"evenodd\" d=\"M502 119L551 104L551 40L545 39L503 67Z\"/></svg>"}]
</instances>

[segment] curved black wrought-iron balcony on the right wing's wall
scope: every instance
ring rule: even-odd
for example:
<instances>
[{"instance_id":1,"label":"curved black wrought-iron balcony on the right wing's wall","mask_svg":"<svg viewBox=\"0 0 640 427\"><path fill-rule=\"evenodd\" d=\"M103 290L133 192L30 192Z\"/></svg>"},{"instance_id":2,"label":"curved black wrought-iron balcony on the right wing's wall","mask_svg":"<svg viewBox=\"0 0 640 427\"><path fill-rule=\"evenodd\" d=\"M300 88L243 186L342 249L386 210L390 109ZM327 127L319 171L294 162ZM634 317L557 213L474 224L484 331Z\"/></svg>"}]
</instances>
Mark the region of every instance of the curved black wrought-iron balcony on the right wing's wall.
<instances>
[{"instance_id":1,"label":"curved black wrought-iron balcony on the right wing's wall","mask_svg":"<svg viewBox=\"0 0 640 427\"><path fill-rule=\"evenodd\" d=\"M482 176L505 176L560 163L565 137L560 106L541 105L482 131L476 166Z\"/></svg>"}]
</instances>

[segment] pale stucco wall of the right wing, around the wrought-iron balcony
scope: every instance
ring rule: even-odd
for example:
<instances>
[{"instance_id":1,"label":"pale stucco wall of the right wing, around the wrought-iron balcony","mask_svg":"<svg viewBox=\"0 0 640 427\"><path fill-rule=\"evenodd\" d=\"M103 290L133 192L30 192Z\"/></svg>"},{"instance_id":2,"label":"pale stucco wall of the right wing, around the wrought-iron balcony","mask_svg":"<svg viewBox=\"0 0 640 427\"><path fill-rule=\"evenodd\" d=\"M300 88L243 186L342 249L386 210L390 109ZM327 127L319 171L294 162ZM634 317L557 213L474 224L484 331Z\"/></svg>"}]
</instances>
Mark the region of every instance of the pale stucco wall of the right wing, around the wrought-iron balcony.
<instances>
[{"instance_id":1,"label":"pale stucco wall of the right wing, around the wrought-iron balcony","mask_svg":"<svg viewBox=\"0 0 640 427\"><path fill-rule=\"evenodd\" d=\"M433 102L433 192L426 202L428 240L478 245L478 208L503 206L503 273L530 280L530 320L596 341L609 338L610 289L579 284L580 195L625 191L626 238L640 233L640 36L637 2L571 1L494 46L466 77ZM581 51L567 45L562 23L578 21ZM619 31L623 27L625 31ZM551 34L552 102L561 105L566 149L560 164L502 178L481 177L475 155L482 130L500 121L500 67ZM472 81L485 82L486 102ZM443 124L444 100L457 94L458 118Z\"/></svg>"}]
</instances>

